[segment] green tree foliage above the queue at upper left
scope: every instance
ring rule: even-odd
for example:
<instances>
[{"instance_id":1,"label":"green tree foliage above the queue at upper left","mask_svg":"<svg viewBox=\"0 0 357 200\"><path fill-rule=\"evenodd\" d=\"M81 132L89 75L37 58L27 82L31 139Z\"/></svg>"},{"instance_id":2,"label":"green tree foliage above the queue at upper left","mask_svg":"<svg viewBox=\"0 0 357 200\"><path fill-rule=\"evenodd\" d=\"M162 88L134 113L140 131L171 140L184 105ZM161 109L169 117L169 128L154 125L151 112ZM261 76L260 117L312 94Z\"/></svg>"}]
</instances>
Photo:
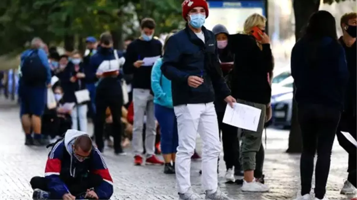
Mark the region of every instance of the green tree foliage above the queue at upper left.
<instances>
[{"instance_id":1,"label":"green tree foliage above the queue at upper left","mask_svg":"<svg viewBox=\"0 0 357 200\"><path fill-rule=\"evenodd\" d=\"M98 37L103 31L122 35L123 24L137 33L138 20L152 17L157 32L178 28L181 1L177 0L1 0L0 55L22 50L32 37L60 44L65 38ZM127 7L133 12L126 12ZM137 17L136 17L137 16ZM78 42L78 41L77 41Z\"/></svg>"}]
</instances>

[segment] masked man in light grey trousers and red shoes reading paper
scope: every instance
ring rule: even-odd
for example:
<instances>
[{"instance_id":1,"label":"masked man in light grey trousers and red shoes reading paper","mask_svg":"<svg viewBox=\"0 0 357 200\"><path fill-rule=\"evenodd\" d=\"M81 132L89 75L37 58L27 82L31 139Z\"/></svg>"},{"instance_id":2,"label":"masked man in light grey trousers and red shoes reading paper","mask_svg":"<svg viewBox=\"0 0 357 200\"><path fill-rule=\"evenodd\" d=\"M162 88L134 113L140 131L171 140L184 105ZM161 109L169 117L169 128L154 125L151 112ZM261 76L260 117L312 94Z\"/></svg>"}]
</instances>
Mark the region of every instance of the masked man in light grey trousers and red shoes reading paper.
<instances>
[{"instance_id":1,"label":"masked man in light grey trousers and red shoes reading paper","mask_svg":"<svg viewBox=\"0 0 357 200\"><path fill-rule=\"evenodd\" d=\"M151 69L155 57L162 54L162 43L153 38L155 21L145 18L141 21L141 36L132 41L126 49L124 73L133 74L132 95L134 103L134 125L132 146L134 149L134 164L143 163L144 152L142 137L144 130L144 116L146 116L145 130L145 159L146 163L164 164L155 156L156 122L154 116L154 96L151 92ZM151 58L151 63L144 63L145 58Z\"/></svg>"}]
</instances>

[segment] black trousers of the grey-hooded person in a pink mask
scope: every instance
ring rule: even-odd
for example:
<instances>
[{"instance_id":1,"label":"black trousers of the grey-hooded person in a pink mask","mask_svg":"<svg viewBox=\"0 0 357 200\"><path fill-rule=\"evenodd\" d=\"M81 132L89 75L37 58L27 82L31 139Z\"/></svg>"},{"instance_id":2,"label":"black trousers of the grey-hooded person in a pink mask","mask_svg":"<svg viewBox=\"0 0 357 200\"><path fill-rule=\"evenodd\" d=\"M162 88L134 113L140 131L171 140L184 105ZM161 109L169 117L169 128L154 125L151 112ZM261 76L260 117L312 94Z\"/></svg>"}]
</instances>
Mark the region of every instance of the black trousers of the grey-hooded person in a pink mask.
<instances>
[{"instance_id":1,"label":"black trousers of the grey-hooded person in a pink mask","mask_svg":"<svg viewBox=\"0 0 357 200\"><path fill-rule=\"evenodd\" d=\"M222 131L223 143L223 160L226 163L226 169L233 166L236 169L241 169L239 162L239 141L238 141L238 128L223 123L224 112L217 112L218 128ZM221 137L220 137L221 138Z\"/></svg>"}]
</instances>

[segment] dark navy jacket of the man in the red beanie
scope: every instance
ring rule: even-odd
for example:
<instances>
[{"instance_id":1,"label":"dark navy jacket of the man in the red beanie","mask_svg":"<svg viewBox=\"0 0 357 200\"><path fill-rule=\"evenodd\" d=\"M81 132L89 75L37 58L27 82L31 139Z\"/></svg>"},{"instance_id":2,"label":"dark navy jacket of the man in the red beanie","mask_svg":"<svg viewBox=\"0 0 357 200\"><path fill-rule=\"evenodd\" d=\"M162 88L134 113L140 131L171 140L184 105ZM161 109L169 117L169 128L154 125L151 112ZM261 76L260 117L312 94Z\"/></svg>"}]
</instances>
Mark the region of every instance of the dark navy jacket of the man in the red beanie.
<instances>
[{"instance_id":1,"label":"dark navy jacket of the man in the red beanie","mask_svg":"<svg viewBox=\"0 0 357 200\"><path fill-rule=\"evenodd\" d=\"M213 102L215 92L221 99L230 95L222 77L215 36L205 27L202 32L205 43L186 24L167 41L161 71L172 81L174 106ZM203 84L197 88L188 86L190 75L202 77Z\"/></svg>"}]
</instances>

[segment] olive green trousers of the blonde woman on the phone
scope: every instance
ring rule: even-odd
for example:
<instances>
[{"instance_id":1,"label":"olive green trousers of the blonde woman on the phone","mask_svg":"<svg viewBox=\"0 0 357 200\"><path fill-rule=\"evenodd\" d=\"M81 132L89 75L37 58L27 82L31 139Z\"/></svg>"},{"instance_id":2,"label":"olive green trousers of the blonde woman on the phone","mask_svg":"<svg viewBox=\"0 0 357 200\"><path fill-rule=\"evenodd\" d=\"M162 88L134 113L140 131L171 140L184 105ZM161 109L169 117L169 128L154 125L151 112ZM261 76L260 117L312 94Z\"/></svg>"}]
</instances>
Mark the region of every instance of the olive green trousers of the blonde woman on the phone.
<instances>
[{"instance_id":1,"label":"olive green trousers of the blonde woman on the phone","mask_svg":"<svg viewBox=\"0 0 357 200\"><path fill-rule=\"evenodd\" d=\"M255 170L256 167L256 154L262 144L262 134L264 130L266 105L253 103L241 99L237 99L237 103L245 104L248 106L261 109L259 124L257 131L250 131L241 129L242 131L242 144L240 152L240 160L243 171Z\"/></svg>"}]
</instances>

